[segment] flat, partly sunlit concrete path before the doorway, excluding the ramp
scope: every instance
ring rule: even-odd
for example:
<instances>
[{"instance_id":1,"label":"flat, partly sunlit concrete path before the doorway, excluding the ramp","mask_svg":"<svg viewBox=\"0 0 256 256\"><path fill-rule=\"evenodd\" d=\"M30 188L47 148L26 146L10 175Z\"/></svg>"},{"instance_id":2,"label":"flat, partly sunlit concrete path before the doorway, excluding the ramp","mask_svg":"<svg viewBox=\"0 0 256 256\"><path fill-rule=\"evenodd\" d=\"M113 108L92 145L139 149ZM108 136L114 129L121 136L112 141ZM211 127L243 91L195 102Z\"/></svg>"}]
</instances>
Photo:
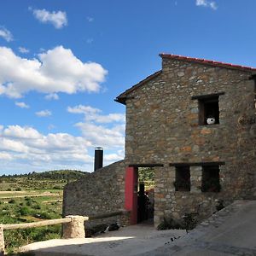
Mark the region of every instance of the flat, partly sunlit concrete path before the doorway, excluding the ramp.
<instances>
[{"instance_id":1,"label":"flat, partly sunlit concrete path before the doorway, excluding the ramp","mask_svg":"<svg viewBox=\"0 0 256 256\"><path fill-rule=\"evenodd\" d=\"M185 230L158 231L152 224L138 224L95 238L39 241L22 247L22 251L32 251L36 256L130 256L148 253L165 245L170 237L185 235Z\"/></svg>"}]
</instances>

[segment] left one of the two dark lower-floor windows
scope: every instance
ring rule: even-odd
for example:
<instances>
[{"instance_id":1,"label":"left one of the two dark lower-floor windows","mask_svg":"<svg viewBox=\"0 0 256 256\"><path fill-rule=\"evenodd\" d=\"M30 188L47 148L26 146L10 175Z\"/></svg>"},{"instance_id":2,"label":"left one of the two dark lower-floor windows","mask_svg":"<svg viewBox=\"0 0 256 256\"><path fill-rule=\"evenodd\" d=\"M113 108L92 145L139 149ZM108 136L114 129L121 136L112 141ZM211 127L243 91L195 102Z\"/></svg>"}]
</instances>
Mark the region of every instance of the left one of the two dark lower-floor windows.
<instances>
[{"instance_id":1,"label":"left one of the two dark lower-floor windows","mask_svg":"<svg viewBox=\"0 0 256 256\"><path fill-rule=\"evenodd\" d=\"M175 191L190 191L189 166L176 167Z\"/></svg>"}]
</instances>

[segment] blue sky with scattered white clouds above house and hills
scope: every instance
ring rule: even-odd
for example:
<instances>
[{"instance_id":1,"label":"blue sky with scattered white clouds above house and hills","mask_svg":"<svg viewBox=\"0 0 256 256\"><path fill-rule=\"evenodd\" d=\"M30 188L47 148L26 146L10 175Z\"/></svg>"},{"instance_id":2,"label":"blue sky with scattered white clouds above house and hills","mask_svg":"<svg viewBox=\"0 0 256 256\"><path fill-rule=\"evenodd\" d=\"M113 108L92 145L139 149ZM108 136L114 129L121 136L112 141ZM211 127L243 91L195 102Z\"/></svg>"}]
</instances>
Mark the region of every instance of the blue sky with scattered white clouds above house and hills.
<instances>
[{"instance_id":1,"label":"blue sky with scattered white clouds above house and hills","mask_svg":"<svg viewBox=\"0 0 256 256\"><path fill-rule=\"evenodd\" d=\"M119 93L160 53L256 67L254 0L2 1L0 174L124 157Z\"/></svg>"}]
</instances>

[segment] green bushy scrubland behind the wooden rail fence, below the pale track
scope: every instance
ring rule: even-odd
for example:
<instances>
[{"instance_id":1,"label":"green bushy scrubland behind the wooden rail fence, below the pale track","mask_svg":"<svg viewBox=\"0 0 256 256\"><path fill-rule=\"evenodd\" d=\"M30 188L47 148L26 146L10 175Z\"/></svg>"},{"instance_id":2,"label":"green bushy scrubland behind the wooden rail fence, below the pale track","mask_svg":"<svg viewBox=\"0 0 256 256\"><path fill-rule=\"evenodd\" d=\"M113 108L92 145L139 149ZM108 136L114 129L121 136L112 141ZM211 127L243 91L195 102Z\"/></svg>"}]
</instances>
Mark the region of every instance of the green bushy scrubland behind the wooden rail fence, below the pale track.
<instances>
[{"instance_id":1,"label":"green bushy scrubland behind the wooden rail fence, below the pale track","mask_svg":"<svg viewBox=\"0 0 256 256\"><path fill-rule=\"evenodd\" d=\"M61 218L61 195L24 197L15 201L3 201L0 204L0 223L16 224L39 221L43 219ZM31 243L33 241L44 241L61 236L61 225L26 230L5 230L5 245L8 252L15 247Z\"/></svg>"}]
</instances>

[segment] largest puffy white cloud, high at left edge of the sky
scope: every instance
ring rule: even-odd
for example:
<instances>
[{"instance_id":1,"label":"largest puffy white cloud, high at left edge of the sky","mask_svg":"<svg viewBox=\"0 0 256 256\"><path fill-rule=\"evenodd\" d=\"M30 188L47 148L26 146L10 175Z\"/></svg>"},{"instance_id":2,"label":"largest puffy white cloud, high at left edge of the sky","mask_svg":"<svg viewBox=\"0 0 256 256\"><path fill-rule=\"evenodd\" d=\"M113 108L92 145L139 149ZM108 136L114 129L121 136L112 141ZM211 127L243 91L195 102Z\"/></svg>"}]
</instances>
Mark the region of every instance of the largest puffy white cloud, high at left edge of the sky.
<instances>
[{"instance_id":1,"label":"largest puffy white cloud, high at left edge of the sky","mask_svg":"<svg viewBox=\"0 0 256 256\"><path fill-rule=\"evenodd\" d=\"M84 63L63 46L31 60L0 47L0 95L19 98L31 90L46 94L97 92L107 73L100 64Z\"/></svg>"}]
</instances>

